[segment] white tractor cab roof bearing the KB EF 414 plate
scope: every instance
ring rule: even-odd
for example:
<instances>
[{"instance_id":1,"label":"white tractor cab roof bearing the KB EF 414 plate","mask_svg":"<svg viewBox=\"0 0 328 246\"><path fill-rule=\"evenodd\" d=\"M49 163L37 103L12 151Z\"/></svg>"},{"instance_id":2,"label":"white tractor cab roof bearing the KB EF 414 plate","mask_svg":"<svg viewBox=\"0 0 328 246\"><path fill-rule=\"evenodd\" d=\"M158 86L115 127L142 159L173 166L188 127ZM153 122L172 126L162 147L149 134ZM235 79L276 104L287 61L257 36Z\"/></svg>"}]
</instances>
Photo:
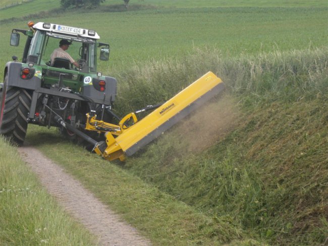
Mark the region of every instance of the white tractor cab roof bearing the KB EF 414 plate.
<instances>
[{"instance_id":1,"label":"white tractor cab roof bearing the KB EF 414 plate","mask_svg":"<svg viewBox=\"0 0 328 246\"><path fill-rule=\"evenodd\" d=\"M81 36L81 37L87 37L92 39L100 38L99 35L94 30L83 29L78 27L69 27L69 26L63 26L58 24L38 22L35 25L33 25L33 28L37 30L70 34L74 36Z\"/></svg>"}]
</instances>

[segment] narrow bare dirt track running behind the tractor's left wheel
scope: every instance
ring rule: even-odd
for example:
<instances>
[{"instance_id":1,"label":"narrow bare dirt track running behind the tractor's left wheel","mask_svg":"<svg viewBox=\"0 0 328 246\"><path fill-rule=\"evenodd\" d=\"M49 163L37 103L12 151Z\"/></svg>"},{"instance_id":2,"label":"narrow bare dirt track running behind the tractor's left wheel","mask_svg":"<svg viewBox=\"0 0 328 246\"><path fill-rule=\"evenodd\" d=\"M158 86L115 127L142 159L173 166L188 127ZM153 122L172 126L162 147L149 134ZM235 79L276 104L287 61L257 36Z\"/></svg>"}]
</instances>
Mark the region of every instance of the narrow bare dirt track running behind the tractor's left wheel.
<instances>
[{"instance_id":1,"label":"narrow bare dirt track running behind the tractor's left wheel","mask_svg":"<svg viewBox=\"0 0 328 246\"><path fill-rule=\"evenodd\" d=\"M150 245L136 229L99 202L63 168L28 145L18 149L23 160L37 173L47 191L99 239L99 245Z\"/></svg>"}]
</instances>

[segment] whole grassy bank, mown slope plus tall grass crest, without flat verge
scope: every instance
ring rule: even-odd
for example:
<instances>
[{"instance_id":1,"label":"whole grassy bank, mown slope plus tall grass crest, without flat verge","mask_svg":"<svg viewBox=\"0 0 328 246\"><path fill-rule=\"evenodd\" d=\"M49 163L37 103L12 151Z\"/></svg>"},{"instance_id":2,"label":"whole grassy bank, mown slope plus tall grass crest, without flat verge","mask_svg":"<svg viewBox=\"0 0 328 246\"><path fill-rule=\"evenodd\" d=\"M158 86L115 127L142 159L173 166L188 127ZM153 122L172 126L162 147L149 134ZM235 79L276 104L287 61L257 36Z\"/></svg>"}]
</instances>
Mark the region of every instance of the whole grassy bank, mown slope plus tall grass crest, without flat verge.
<instances>
[{"instance_id":1,"label":"whole grassy bank, mown slope plus tall grass crest, without flat verge","mask_svg":"<svg viewBox=\"0 0 328 246\"><path fill-rule=\"evenodd\" d=\"M207 70L222 77L235 99L223 96L206 105L205 113L195 112L125 168L274 244L322 243L328 235L327 51L228 59L195 50L183 60L150 61L127 72L120 94L138 95L135 104L162 100L165 86L175 94L185 86L183 77L192 82ZM142 97L144 83L154 87ZM120 98L118 106L126 104L128 97ZM211 134L202 139L206 132ZM204 151L208 141L214 144Z\"/></svg>"}]
</instances>

